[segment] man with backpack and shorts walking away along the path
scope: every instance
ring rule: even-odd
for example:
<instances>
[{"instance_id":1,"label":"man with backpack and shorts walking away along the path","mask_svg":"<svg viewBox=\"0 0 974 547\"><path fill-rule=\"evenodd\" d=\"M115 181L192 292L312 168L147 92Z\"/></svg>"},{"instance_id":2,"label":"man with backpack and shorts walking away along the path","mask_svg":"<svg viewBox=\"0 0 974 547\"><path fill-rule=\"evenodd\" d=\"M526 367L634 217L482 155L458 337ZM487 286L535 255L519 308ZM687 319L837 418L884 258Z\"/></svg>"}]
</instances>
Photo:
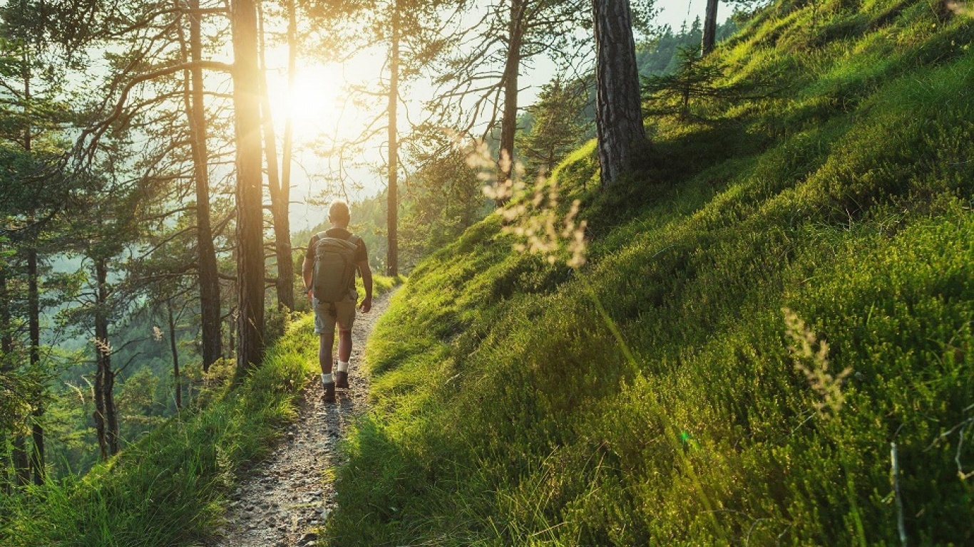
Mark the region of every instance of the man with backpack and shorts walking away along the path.
<instances>
[{"instance_id":1,"label":"man with backpack and shorts walking away along the path","mask_svg":"<svg viewBox=\"0 0 974 547\"><path fill-rule=\"evenodd\" d=\"M349 221L352 215L349 205L345 201L332 201L328 207L328 221L331 228L312 236L305 254L302 274L304 275L305 291L311 299L315 309L315 332L318 333L318 364L321 366L321 383L324 384L324 401L335 400L335 388L349 387L349 359L352 357L352 323L356 320L356 292L357 271L362 276L365 286L365 300L359 310L367 313L372 309L372 271L368 266L368 252L361 237L349 232ZM348 251L354 268L349 275L348 284L344 280L336 280L335 267L325 266L340 263L337 253L329 254L331 248L344 247ZM330 261L330 262L329 262ZM320 279L317 275L328 276ZM340 278L341 271L337 274ZM331 297L324 294L322 284L331 281L341 283L338 296ZM334 375L331 372L331 348L335 343L335 325L338 325L338 367Z\"/></svg>"}]
</instances>

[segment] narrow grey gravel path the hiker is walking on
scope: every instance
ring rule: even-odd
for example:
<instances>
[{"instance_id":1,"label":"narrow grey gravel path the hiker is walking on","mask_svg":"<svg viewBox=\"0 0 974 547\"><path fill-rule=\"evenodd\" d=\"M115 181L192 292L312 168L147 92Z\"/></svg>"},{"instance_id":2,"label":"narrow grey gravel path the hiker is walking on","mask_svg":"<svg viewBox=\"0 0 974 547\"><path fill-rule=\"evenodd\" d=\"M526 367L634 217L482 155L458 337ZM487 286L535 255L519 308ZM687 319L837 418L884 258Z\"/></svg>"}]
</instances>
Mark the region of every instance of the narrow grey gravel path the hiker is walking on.
<instances>
[{"instance_id":1,"label":"narrow grey gravel path the hiker is walking on","mask_svg":"<svg viewBox=\"0 0 974 547\"><path fill-rule=\"evenodd\" d=\"M392 292L378 296L368 313L356 313L347 391L334 403L322 402L321 381L301 393L298 417L289 424L270 455L247 472L231 495L222 536L214 547L308 547L318 543L316 529L335 508L333 469L342 463L338 444L368 406L368 377L361 363L365 341L389 305ZM318 344L309 339L308 344ZM317 353L316 353L317 354Z\"/></svg>"}]
</instances>

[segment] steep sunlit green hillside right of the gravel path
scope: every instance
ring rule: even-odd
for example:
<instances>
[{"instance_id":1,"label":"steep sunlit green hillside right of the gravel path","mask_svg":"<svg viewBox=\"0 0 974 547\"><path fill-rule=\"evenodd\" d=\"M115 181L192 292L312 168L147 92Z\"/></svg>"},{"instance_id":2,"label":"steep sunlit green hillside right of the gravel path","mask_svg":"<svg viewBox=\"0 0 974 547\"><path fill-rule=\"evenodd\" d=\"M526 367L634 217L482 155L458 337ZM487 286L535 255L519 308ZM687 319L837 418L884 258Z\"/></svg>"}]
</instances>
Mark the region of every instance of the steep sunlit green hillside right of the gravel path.
<instances>
[{"instance_id":1,"label":"steep sunlit green hillside right of the gravel path","mask_svg":"<svg viewBox=\"0 0 974 547\"><path fill-rule=\"evenodd\" d=\"M938 6L759 14L714 61L763 98L647 120L624 189L591 144L554 173L581 269L499 215L418 266L330 541L974 542L974 19Z\"/></svg>"}]
</instances>

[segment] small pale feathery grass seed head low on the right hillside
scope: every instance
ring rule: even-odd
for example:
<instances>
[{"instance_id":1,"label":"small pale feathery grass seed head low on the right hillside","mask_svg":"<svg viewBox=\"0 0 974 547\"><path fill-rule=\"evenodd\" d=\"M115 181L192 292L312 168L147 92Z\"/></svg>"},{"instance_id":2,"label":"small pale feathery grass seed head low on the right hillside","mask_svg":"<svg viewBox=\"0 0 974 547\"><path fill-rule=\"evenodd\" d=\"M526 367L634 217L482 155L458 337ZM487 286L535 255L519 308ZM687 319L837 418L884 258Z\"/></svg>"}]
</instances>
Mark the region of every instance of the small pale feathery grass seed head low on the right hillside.
<instances>
[{"instance_id":1,"label":"small pale feathery grass seed head low on the right hillside","mask_svg":"<svg viewBox=\"0 0 974 547\"><path fill-rule=\"evenodd\" d=\"M797 313L787 308L781 311L785 314L788 338L792 340L788 349L795 358L795 370L805 374L812 390L821 396L822 400L813 406L819 415L828 418L827 411L836 414L843 407L843 382L852 369L846 367L837 376L832 376L829 372L829 344L825 340L818 340ZM818 348L815 349L815 346Z\"/></svg>"}]
</instances>

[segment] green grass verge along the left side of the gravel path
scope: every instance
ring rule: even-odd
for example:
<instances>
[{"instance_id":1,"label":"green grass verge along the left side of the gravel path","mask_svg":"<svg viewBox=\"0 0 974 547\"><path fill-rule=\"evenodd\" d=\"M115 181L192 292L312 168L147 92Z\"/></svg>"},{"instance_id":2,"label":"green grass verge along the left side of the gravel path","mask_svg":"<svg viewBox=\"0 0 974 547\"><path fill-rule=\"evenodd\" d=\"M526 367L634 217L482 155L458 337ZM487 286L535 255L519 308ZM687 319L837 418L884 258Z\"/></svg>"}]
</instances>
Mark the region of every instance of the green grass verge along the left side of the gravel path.
<instances>
[{"instance_id":1,"label":"green grass verge along the left side of the gravel path","mask_svg":"<svg viewBox=\"0 0 974 547\"><path fill-rule=\"evenodd\" d=\"M376 276L376 294L395 282ZM206 542L223 521L227 494L294 419L295 398L317 370L314 318L305 314L241 385L212 386L203 408L169 419L84 477L0 494L0 544ZM224 376L229 382L232 373Z\"/></svg>"}]
</instances>

